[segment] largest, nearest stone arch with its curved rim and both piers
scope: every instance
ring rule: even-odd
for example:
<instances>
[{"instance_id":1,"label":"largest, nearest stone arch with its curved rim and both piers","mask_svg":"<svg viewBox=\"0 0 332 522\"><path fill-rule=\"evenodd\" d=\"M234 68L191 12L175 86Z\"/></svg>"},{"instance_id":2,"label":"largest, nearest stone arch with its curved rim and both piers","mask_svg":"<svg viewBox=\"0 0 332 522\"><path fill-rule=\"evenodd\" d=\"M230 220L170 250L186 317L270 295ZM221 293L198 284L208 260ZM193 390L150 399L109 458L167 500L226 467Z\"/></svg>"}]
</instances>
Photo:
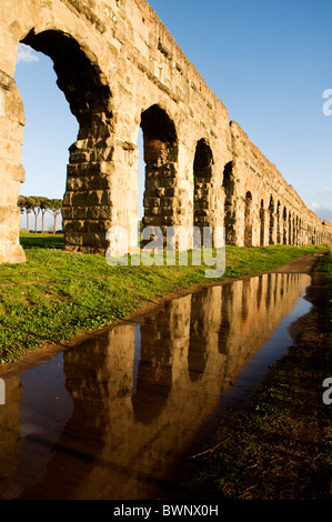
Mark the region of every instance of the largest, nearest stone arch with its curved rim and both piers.
<instances>
[{"instance_id":1,"label":"largest, nearest stone arch with its curved rim and both piers","mask_svg":"<svg viewBox=\"0 0 332 522\"><path fill-rule=\"evenodd\" d=\"M19 9L18 4L16 9ZM105 231L110 223L107 163L110 164L113 151L110 81L102 70L93 46L89 44L89 28L71 14L59 17L52 9L49 18L43 14L42 9L33 2L26 2L23 16L10 26L16 23L16 30L9 37L10 49L14 51L10 54L10 63L7 64L10 73L3 71L6 63L0 60L0 92L4 91L2 97L7 99L1 114L1 127L10 129L6 137L7 148L14 148L14 154L10 158L11 164L4 165L6 171L2 169L1 172L3 184L11 190L7 191L4 202L6 220L1 219L1 229L9 235L6 238L6 248L1 249L0 262L24 260L19 244L20 219L16 205L20 184L24 181L24 168L21 164L26 124L24 100L21 99L13 79L19 43L28 44L51 58L57 84L63 91L79 123L77 141L73 144L68 143L69 164L62 210L66 249L101 253L107 247ZM1 157L3 149L1 148ZM0 214L2 218L3 213Z\"/></svg>"}]
</instances>

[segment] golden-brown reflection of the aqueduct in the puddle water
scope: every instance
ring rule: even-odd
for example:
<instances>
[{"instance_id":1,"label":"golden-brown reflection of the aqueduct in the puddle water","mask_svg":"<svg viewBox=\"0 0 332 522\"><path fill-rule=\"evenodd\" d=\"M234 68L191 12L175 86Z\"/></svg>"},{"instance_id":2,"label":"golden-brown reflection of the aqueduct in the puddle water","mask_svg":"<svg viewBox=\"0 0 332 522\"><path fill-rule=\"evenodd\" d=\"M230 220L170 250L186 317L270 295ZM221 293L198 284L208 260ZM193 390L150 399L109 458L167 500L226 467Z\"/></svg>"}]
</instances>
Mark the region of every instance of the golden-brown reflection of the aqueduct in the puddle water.
<instances>
[{"instance_id":1,"label":"golden-brown reflection of the aqueduct in the puddle water","mask_svg":"<svg viewBox=\"0 0 332 522\"><path fill-rule=\"evenodd\" d=\"M120 324L64 352L72 413L51 444L42 440L42 423L37 422L37 436L30 435L32 441L41 436L47 472L39 484L29 481L29 466L21 462L21 488L31 488L31 498L60 495L63 483L67 498L150 498L147 478L152 476L151 488L163 478L218 405L221 390L271 337L309 283L308 275L264 274L209 288L168 302L140 325ZM21 454L27 455L27 445L24 452L20 448L26 442L19 436L18 387L18 378L8 385L8 418L0 410L0 473L7 476ZM46 387L43 402L48 394ZM48 411L47 423L52 416ZM11 463L8 455L16 455ZM2 496L11 491L18 485L7 483Z\"/></svg>"}]
</instances>

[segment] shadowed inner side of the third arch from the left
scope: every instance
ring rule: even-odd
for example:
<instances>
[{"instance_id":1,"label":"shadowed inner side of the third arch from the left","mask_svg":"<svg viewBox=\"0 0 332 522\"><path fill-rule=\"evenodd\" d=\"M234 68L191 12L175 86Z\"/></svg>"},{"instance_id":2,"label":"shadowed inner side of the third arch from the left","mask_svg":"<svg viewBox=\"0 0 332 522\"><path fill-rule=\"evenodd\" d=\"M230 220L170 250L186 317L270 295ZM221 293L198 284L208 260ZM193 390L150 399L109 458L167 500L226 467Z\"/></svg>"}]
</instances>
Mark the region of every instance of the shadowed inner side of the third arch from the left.
<instances>
[{"instance_id":1,"label":"shadowed inner side of the third arch from the left","mask_svg":"<svg viewBox=\"0 0 332 522\"><path fill-rule=\"evenodd\" d=\"M210 220L210 188L212 178L213 154L207 142L202 139L197 143L193 161L193 223L202 229L209 227Z\"/></svg>"}]
</instances>

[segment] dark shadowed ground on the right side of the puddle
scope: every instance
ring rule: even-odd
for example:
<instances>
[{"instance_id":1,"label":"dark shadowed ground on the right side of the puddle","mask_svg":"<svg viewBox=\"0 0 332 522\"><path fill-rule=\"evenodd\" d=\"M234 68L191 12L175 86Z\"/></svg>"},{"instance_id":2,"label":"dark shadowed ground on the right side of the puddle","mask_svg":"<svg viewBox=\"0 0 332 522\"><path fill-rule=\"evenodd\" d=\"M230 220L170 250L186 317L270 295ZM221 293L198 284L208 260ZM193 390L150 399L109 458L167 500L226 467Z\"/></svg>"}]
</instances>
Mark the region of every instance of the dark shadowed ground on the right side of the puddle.
<instances>
[{"instance_id":1,"label":"dark shadowed ground on the right side of the puddle","mask_svg":"<svg viewBox=\"0 0 332 522\"><path fill-rule=\"evenodd\" d=\"M322 400L332 377L331 254L320 260L308 298L313 308L298 322L293 347L198 458L200 498L331 500L332 404Z\"/></svg>"}]
</instances>

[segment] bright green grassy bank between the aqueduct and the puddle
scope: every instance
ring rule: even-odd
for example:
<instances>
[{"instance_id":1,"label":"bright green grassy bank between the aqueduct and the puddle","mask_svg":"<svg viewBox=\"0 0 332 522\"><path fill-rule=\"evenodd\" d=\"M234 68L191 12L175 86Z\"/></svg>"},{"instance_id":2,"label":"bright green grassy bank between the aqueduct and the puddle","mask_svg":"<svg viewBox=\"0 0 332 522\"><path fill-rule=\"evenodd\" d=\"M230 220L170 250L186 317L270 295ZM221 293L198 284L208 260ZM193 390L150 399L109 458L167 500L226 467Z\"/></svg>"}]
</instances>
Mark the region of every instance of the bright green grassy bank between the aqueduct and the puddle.
<instances>
[{"instance_id":1,"label":"bright green grassy bank between the aqueduct and the puddle","mask_svg":"<svg viewBox=\"0 0 332 522\"><path fill-rule=\"evenodd\" d=\"M147 302L205 284L205 267L110 267L62 251L59 235L22 234L27 263L0 267L0 361L110 324ZM227 248L222 279L269 271L319 247Z\"/></svg>"}]
</instances>

